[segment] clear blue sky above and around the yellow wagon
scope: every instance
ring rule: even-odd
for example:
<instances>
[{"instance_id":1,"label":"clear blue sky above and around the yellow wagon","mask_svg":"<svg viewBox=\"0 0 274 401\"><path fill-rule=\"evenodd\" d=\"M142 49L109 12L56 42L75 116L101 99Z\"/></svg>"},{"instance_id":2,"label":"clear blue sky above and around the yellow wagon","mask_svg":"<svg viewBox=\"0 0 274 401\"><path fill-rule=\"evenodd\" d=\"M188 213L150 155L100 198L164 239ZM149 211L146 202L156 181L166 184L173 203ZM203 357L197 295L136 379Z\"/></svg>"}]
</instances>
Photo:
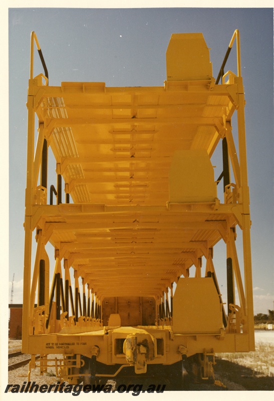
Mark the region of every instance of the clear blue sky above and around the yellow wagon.
<instances>
[{"instance_id":1,"label":"clear blue sky above and around the yellow wagon","mask_svg":"<svg viewBox=\"0 0 274 401\"><path fill-rule=\"evenodd\" d=\"M31 31L37 33L50 85L91 81L106 86L162 86L172 33L203 33L216 78L231 36L239 29L254 312L273 309L273 9L17 7L9 10L9 300L15 273L14 303L22 302ZM235 49L230 57L225 70L236 72ZM39 63L35 68L35 74L42 72ZM219 286L225 287L225 271L217 267L217 258L218 253L214 262L220 271Z\"/></svg>"}]
</instances>

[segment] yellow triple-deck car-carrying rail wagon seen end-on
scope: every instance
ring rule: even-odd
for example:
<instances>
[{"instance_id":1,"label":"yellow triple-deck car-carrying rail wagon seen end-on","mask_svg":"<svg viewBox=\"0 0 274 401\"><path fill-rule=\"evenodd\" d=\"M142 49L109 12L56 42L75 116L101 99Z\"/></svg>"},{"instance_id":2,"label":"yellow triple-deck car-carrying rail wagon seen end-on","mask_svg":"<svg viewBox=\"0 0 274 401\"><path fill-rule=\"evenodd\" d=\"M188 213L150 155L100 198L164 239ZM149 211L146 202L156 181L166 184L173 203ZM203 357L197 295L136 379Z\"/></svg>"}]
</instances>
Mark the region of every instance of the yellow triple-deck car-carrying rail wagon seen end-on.
<instances>
[{"instance_id":1,"label":"yellow triple-deck car-carrying rail wagon seen end-on","mask_svg":"<svg viewBox=\"0 0 274 401\"><path fill-rule=\"evenodd\" d=\"M237 73L224 74L234 43ZM36 77L35 44L45 70ZM22 345L33 355L29 380L35 366L43 374L55 365L69 383L155 368L174 381L183 361L212 382L216 352L254 349L239 33L216 81L202 34L173 34L166 67L162 87L49 86L32 33ZM49 147L56 187L48 184ZM213 265L219 241L226 305Z\"/></svg>"}]
</instances>

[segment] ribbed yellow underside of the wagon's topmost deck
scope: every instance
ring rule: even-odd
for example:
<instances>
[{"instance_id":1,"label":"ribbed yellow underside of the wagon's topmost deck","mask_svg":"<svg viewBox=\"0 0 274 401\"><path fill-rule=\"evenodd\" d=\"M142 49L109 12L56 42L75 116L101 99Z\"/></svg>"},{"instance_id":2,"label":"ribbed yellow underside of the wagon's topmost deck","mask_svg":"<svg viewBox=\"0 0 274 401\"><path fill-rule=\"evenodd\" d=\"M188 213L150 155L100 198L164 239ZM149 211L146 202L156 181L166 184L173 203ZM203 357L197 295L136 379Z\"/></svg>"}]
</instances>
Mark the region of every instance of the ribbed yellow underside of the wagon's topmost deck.
<instances>
[{"instance_id":1,"label":"ribbed yellow underside of the wagon's topmost deck","mask_svg":"<svg viewBox=\"0 0 274 401\"><path fill-rule=\"evenodd\" d=\"M154 88L66 82L44 87L36 111L74 203L164 206L174 152L212 155L234 111L225 92L211 81Z\"/></svg>"}]
</instances>

